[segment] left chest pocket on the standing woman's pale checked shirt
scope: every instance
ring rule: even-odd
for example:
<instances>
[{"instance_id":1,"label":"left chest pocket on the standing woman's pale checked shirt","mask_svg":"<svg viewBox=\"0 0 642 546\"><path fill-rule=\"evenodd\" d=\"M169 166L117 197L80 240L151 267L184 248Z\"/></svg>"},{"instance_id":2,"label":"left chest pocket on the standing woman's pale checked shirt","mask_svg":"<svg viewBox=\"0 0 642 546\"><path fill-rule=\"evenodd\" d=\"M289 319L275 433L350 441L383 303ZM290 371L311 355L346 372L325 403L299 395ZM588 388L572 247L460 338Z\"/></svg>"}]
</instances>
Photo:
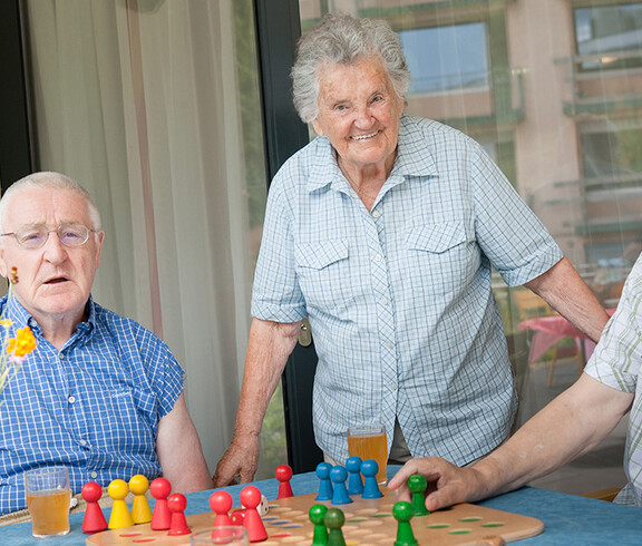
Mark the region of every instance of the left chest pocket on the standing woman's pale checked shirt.
<instances>
[{"instance_id":1,"label":"left chest pocket on the standing woman's pale checked shirt","mask_svg":"<svg viewBox=\"0 0 642 546\"><path fill-rule=\"evenodd\" d=\"M340 240L298 244L294 250L299 285L309 311L340 313L350 295L348 244Z\"/></svg>"}]
</instances>

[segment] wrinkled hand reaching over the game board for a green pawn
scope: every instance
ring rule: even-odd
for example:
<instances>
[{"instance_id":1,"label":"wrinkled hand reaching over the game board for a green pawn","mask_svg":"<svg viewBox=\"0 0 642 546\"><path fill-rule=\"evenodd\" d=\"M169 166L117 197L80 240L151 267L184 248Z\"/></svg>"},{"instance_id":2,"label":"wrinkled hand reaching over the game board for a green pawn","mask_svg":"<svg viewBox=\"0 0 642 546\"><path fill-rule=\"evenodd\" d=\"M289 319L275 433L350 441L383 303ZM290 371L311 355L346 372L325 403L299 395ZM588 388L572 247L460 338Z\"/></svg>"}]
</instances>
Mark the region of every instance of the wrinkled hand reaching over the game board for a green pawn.
<instances>
[{"instance_id":1,"label":"wrinkled hand reaching over the game board for a green pawn","mask_svg":"<svg viewBox=\"0 0 642 546\"><path fill-rule=\"evenodd\" d=\"M410 501L408 478L414 474L425 476L428 481L426 508L430 511L483 497L480 476L475 469L459 468L440 457L427 457L406 462L388 484L389 489L398 489L400 500Z\"/></svg>"}]
</instances>

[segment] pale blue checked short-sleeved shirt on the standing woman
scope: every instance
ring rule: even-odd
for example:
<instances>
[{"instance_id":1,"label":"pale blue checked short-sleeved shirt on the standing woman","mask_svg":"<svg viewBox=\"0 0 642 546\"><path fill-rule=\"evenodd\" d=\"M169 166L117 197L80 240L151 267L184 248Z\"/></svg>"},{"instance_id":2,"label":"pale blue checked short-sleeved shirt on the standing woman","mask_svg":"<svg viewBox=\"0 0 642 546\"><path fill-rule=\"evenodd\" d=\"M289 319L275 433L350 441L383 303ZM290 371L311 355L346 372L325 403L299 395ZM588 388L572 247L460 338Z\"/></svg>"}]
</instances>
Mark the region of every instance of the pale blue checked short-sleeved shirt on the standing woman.
<instances>
[{"instance_id":1,"label":"pale blue checked short-sleeved shirt on the standing woman","mask_svg":"<svg viewBox=\"0 0 642 546\"><path fill-rule=\"evenodd\" d=\"M319 355L315 439L348 457L347 428L395 417L415 457L466 464L507 436L517 399L494 266L523 284L560 247L483 148L402 116L371 212L317 138L272 183L252 314L309 316Z\"/></svg>"}]
</instances>

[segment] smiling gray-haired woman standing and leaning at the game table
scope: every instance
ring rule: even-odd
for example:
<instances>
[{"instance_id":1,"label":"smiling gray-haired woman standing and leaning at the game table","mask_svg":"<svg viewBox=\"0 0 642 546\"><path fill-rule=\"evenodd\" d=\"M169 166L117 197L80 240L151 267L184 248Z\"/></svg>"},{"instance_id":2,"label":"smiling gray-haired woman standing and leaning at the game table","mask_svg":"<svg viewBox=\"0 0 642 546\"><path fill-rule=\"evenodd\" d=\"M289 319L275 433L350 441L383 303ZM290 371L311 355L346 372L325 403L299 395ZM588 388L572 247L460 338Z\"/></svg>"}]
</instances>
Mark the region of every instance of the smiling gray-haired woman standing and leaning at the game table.
<instances>
[{"instance_id":1,"label":"smiling gray-haired woman standing and leaning at the game table","mask_svg":"<svg viewBox=\"0 0 642 546\"><path fill-rule=\"evenodd\" d=\"M215 484L253 477L305 316L327 458L344 462L348 427L377 420L395 431L391 460L466 465L505 440L517 406L490 267L593 340L607 315L477 143L403 115L410 74L386 22L327 16L292 76L319 138L270 189L235 432Z\"/></svg>"}]
</instances>

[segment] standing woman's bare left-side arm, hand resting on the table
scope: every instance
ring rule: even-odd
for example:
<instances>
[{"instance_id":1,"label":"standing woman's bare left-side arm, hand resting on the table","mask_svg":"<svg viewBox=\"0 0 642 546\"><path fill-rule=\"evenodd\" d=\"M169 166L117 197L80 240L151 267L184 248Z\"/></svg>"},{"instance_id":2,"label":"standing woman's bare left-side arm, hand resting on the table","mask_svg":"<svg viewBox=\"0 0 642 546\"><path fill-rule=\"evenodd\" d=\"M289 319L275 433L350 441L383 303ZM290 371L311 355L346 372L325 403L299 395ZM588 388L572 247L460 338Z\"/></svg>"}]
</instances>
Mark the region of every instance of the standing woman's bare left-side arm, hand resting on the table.
<instances>
[{"instance_id":1,"label":"standing woman's bare left-side arm, hand resting on the table","mask_svg":"<svg viewBox=\"0 0 642 546\"><path fill-rule=\"evenodd\" d=\"M216 466L215 487L227 486L236 478L243 484L254 478L263 418L300 330L301 322L252 321L234 437Z\"/></svg>"}]
</instances>

